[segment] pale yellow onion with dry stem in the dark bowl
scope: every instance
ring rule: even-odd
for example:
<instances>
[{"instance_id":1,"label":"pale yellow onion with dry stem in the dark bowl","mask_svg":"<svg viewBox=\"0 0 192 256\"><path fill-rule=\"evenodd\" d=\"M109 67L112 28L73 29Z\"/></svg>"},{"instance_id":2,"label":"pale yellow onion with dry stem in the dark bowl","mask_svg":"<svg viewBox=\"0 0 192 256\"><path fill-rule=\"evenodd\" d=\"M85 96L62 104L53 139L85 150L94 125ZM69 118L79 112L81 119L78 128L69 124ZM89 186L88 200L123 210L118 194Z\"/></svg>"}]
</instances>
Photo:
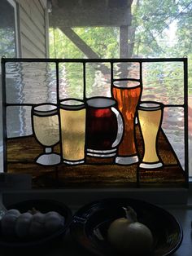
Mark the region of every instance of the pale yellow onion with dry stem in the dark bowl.
<instances>
[{"instance_id":1,"label":"pale yellow onion with dry stem in the dark bowl","mask_svg":"<svg viewBox=\"0 0 192 256\"><path fill-rule=\"evenodd\" d=\"M137 222L137 214L131 207L124 210L126 218L117 218L108 228L108 241L122 254L129 256L150 254L153 245L151 230Z\"/></svg>"}]
</instances>

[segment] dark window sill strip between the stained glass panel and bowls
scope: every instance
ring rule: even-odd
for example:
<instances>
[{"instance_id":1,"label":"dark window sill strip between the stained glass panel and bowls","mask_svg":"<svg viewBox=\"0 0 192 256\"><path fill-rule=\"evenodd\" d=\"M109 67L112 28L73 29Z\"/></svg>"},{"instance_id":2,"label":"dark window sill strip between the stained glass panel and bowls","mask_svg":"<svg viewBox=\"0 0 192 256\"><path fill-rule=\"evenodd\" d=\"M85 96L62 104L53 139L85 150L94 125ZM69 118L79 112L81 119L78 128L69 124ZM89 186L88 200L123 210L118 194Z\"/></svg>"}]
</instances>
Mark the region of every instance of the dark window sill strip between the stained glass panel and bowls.
<instances>
[{"instance_id":1,"label":"dark window sill strip between the stained glass panel and bowls","mask_svg":"<svg viewBox=\"0 0 192 256\"><path fill-rule=\"evenodd\" d=\"M90 201L109 197L130 197L148 201L155 205L183 205L192 208L192 190L185 188L167 189L55 189L55 190L10 190L2 193L5 205L28 199L52 199L63 201L74 209Z\"/></svg>"}]
</instances>

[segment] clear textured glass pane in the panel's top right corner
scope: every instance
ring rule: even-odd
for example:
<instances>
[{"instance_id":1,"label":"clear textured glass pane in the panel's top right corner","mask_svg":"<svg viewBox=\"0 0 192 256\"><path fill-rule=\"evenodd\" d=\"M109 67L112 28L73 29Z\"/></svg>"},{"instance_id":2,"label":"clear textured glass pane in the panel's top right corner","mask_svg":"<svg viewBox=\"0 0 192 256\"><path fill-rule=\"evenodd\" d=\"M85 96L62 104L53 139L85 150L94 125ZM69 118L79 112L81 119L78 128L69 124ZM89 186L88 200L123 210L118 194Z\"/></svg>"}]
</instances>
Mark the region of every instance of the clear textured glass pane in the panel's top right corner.
<instances>
[{"instance_id":1,"label":"clear textured glass pane in the panel's top right corner","mask_svg":"<svg viewBox=\"0 0 192 256\"><path fill-rule=\"evenodd\" d=\"M142 100L155 100L164 104L184 103L182 63L143 63L142 67Z\"/></svg>"}]
</instances>

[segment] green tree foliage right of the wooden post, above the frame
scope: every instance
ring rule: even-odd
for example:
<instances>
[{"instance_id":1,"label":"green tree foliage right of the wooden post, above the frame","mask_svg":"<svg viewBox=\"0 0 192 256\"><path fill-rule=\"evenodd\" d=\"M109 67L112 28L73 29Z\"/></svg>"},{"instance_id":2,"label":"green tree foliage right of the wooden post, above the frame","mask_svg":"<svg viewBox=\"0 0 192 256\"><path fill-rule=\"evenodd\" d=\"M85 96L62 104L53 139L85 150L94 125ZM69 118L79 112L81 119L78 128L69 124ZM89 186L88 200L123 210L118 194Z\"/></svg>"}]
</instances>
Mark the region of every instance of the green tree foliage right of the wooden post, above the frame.
<instances>
[{"instance_id":1,"label":"green tree foliage right of the wooden post, above the frame","mask_svg":"<svg viewBox=\"0 0 192 256\"><path fill-rule=\"evenodd\" d=\"M132 8L135 42L139 57L183 57L189 59L189 93L192 94L192 2L190 0L137 0ZM175 29L171 42L170 25ZM168 30L169 29L169 30Z\"/></svg>"}]
</instances>

